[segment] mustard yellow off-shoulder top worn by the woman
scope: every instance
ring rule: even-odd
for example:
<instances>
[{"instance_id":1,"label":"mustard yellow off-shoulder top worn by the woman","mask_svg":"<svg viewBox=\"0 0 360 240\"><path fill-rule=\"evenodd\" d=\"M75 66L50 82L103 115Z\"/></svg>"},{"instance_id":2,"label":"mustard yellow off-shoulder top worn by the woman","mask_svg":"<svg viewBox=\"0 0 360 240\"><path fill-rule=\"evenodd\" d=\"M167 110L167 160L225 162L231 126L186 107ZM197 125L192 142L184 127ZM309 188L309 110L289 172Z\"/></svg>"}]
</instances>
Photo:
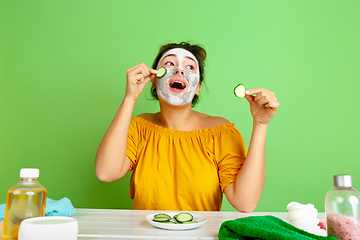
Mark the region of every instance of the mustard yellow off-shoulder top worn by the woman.
<instances>
[{"instance_id":1,"label":"mustard yellow off-shoulder top worn by the woman","mask_svg":"<svg viewBox=\"0 0 360 240\"><path fill-rule=\"evenodd\" d=\"M127 156L133 209L220 211L246 147L233 123L178 131L134 117Z\"/></svg>"}]
</instances>

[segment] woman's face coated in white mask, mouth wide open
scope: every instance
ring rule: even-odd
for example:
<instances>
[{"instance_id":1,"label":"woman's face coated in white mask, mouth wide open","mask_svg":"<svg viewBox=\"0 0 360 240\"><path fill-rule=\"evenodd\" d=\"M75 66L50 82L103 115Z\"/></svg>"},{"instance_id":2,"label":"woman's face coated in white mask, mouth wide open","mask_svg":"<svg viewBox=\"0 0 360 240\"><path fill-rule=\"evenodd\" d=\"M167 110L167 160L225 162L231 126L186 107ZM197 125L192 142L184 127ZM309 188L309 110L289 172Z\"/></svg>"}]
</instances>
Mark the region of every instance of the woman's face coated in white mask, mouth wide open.
<instances>
[{"instance_id":1,"label":"woman's face coated in white mask, mouth wide open","mask_svg":"<svg viewBox=\"0 0 360 240\"><path fill-rule=\"evenodd\" d=\"M155 80L157 95L173 106L190 103L200 88L198 66L196 57L185 49L165 52L157 68L165 67L167 73Z\"/></svg>"}]
</instances>

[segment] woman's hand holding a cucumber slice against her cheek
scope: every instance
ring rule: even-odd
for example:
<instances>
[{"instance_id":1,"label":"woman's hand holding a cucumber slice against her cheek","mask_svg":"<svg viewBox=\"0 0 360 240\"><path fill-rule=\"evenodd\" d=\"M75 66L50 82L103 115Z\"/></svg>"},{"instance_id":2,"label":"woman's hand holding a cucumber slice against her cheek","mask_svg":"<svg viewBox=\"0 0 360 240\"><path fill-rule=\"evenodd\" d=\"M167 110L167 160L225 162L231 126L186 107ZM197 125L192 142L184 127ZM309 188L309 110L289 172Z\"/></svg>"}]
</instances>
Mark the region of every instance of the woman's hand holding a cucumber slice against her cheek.
<instances>
[{"instance_id":1,"label":"woman's hand holding a cucumber slice against her cheek","mask_svg":"<svg viewBox=\"0 0 360 240\"><path fill-rule=\"evenodd\" d=\"M157 71L140 63L126 71L125 98L136 101L146 84L155 79Z\"/></svg>"}]
</instances>

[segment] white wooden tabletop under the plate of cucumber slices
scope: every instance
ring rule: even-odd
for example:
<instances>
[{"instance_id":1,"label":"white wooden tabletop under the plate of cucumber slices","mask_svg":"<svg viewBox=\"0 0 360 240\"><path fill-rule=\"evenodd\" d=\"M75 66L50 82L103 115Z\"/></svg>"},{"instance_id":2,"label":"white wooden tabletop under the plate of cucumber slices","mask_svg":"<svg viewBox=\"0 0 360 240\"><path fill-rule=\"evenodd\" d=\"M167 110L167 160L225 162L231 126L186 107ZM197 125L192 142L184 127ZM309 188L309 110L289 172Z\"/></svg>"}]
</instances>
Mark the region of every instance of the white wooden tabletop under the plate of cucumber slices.
<instances>
[{"instance_id":1,"label":"white wooden tabletop under the plate of cucumber slices","mask_svg":"<svg viewBox=\"0 0 360 240\"><path fill-rule=\"evenodd\" d=\"M79 223L78 240L218 239L220 225L226 220L273 215L286 221L287 217L286 212L193 212L205 216L208 221L197 229L171 231L153 227L146 221L147 215L158 212L167 211L76 209L72 217ZM323 217L320 213L319 218Z\"/></svg>"}]
</instances>

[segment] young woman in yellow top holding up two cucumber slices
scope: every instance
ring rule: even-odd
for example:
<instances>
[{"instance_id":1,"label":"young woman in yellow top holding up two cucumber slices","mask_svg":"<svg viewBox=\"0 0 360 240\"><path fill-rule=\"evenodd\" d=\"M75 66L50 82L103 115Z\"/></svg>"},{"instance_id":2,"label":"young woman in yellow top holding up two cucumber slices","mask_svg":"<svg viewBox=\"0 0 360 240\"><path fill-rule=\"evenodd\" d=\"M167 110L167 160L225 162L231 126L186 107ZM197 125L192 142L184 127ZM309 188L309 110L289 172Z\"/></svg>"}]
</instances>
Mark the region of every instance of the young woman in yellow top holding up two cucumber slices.
<instances>
[{"instance_id":1,"label":"young woman in yellow top holding up two cucumber slices","mask_svg":"<svg viewBox=\"0 0 360 240\"><path fill-rule=\"evenodd\" d=\"M95 172L112 182L133 171L133 209L219 211L223 193L242 212L255 209L265 182L265 136L279 103L273 92L246 92L253 117L248 151L234 124L192 109L206 52L189 43L161 47L153 68L127 70L125 97L97 151ZM167 73L156 77L159 67ZM131 118L146 84L160 112Z\"/></svg>"}]
</instances>

